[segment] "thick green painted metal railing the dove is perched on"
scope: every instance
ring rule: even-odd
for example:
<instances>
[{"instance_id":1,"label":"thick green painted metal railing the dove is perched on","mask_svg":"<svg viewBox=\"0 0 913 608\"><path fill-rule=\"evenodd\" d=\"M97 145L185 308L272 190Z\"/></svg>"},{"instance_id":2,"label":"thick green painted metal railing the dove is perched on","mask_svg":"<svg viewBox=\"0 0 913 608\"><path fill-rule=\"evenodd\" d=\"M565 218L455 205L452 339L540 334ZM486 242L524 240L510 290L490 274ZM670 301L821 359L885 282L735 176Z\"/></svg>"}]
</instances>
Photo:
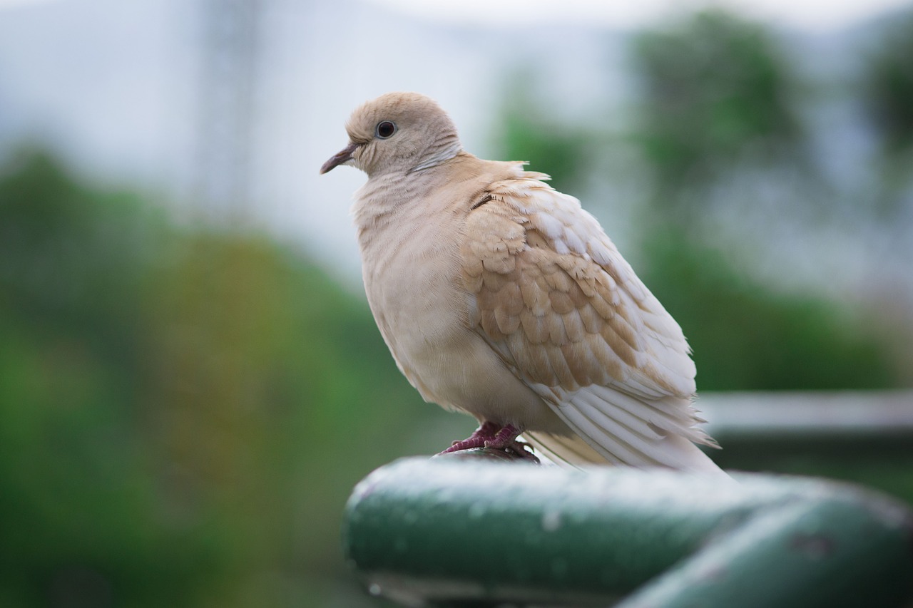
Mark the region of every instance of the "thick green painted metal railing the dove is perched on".
<instances>
[{"instance_id":1,"label":"thick green painted metal railing the dove is perched on","mask_svg":"<svg viewBox=\"0 0 913 608\"><path fill-rule=\"evenodd\" d=\"M343 539L406 606L913 605L913 513L859 487L754 474L407 458L355 488Z\"/></svg>"}]
</instances>

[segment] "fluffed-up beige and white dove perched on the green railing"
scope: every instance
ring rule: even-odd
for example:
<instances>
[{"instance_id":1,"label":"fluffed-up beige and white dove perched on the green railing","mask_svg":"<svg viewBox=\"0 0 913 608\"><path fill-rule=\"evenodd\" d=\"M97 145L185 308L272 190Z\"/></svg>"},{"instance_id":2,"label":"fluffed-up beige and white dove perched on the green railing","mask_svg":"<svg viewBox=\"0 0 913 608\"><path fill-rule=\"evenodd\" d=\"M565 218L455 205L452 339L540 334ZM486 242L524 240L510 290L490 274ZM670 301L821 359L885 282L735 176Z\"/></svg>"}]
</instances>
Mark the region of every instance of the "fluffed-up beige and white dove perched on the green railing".
<instances>
[{"instance_id":1,"label":"fluffed-up beige and white dove perched on the green railing","mask_svg":"<svg viewBox=\"0 0 913 608\"><path fill-rule=\"evenodd\" d=\"M722 473L681 328L576 198L463 150L420 93L364 102L345 131L320 173L367 174L352 217L383 340L426 402L479 423L445 452Z\"/></svg>"}]
</instances>

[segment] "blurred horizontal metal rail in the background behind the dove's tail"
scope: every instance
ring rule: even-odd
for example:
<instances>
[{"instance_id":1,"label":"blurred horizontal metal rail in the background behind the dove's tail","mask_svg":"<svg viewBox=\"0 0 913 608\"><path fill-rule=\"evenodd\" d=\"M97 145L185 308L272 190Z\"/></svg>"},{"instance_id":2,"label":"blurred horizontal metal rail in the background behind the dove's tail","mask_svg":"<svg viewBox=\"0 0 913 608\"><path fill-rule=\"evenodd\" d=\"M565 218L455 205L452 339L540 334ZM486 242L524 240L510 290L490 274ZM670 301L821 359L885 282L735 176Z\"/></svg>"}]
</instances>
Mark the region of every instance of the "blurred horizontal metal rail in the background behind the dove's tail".
<instances>
[{"instance_id":1,"label":"blurred horizontal metal rail in the background behind the dove's tail","mask_svg":"<svg viewBox=\"0 0 913 608\"><path fill-rule=\"evenodd\" d=\"M913 391L700 393L695 406L723 446L711 453L720 466L908 483Z\"/></svg>"}]
</instances>

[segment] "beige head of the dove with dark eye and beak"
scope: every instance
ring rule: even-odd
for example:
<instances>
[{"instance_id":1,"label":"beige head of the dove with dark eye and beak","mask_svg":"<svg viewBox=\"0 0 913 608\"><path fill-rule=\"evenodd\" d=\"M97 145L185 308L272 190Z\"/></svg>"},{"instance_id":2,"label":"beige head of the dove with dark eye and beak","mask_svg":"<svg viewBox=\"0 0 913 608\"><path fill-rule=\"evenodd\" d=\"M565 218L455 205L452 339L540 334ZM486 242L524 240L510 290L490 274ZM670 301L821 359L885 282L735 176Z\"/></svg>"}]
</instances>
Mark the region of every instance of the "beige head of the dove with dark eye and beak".
<instances>
[{"instance_id":1,"label":"beige head of the dove with dark eye and beak","mask_svg":"<svg viewBox=\"0 0 913 608\"><path fill-rule=\"evenodd\" d=\"M445 162L461 149L450 117L418 93L387 93L367 101L352 112L345 129L349 145L324 162L320 173L341 164L368 177L411 173Z\"/></svg>"}]
</instances>

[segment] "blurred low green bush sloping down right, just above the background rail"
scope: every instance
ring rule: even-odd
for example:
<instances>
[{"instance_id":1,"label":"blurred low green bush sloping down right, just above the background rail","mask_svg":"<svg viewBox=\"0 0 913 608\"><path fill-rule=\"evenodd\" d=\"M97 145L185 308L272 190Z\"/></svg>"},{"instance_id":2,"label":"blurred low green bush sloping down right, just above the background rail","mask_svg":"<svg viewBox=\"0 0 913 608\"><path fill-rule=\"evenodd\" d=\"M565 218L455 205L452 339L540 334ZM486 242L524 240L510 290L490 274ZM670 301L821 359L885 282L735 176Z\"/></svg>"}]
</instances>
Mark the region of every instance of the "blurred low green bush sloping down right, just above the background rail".
<instances>
[{"instance_id":1,"label":"blurred low green bush sloping down right, just above the background rail","mask_svg":"<svg viewBox=\"0 0 913 608\"><path fill-rule=\"evenodd\" d=\"M886 345L839 303L772 291L675 230L646 246L641 278L685 330L698 391L897 386Z\"/></svg>"}]
</instances>

